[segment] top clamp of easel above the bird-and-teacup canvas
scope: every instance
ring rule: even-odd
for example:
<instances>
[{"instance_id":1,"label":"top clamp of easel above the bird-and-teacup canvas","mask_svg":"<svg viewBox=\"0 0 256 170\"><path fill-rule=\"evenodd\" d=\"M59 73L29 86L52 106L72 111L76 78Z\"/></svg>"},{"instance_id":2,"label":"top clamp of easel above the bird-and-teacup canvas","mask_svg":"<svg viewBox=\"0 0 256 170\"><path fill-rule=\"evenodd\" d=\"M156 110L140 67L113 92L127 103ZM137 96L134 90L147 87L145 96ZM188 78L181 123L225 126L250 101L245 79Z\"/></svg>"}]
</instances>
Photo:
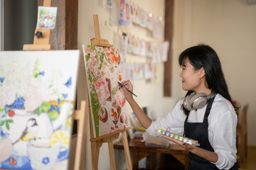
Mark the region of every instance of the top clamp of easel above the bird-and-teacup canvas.
<instances>
[{"instance_id":1,"label":"top clamp of easel above the bird-and-teacup canvas","mask_svg":"<svg viewBox=\"0 0 256 170\"><path fill-rule=\"evenodd\" d=\"M51 0L44 0L43 6L51 6ZM41 33L41 37L38 38L36 33ZM36 29L33 39L33 44L24 44L23 50L52 50L50 45L50 29Z\"/></svg>"}]
</instances>

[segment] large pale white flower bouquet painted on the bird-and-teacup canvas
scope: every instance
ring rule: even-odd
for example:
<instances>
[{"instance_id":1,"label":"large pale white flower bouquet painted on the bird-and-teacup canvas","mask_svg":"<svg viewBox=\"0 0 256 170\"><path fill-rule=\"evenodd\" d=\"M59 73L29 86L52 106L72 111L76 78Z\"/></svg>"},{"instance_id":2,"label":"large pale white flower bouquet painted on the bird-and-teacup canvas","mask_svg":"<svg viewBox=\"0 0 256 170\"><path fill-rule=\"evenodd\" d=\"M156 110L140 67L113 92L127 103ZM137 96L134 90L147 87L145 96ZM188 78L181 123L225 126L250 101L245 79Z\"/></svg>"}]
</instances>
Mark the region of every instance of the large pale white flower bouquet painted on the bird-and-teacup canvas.
<instances>
[{"instance_id":1,"label":"large pale white flower bouquet painted on the bird-and-teacup canvas","mask_svg":"<svg viewBox=\"0 0 256 170\"><path fill-rule=\"evenodd\" d=\"M45 64L43 60L19 58L0 63L0 108L18 107L16 103L21 100L19 108L33 112L43 101L67 100L71 96L71 85L66 83L70 79L71 84L70 75L65 75L59 67L51 69Z\"/></svg>"}]
</instances>

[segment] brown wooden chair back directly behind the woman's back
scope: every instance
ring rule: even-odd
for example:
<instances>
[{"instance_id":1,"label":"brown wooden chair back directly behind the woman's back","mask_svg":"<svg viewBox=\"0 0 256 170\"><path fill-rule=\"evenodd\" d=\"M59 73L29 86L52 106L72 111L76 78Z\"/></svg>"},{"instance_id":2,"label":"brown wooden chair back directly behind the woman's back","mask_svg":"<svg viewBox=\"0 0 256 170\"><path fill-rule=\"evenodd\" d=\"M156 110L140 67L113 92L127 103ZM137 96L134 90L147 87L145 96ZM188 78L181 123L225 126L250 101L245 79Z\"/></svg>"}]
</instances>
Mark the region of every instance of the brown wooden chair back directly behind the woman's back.
<instances>
[{"instance_id":1,"label":"brown wooden chair back directly behind the woman's back","mask_svg":"<svg viewBox=\"0 0 256 170\"><path fill-rule=\"evenodd\" d=\"M240 162L243 163L245 157L247 157L247 110L249 104L246 104L242 109L242 115L240 123L238 123L237 127L237 140L240 140L240 145L238 147L238 155L240 157Z\"/></svg>"}]
</instances>

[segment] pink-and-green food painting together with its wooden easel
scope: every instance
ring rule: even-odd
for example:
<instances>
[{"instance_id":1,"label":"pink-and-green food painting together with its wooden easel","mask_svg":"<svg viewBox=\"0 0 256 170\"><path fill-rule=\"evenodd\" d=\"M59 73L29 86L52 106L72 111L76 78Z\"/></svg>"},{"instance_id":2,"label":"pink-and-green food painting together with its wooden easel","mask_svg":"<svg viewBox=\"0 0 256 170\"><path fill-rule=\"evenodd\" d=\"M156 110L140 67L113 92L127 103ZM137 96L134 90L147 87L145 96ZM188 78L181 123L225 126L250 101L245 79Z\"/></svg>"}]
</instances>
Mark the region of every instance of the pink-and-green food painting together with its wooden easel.
<instances>
[{"instance_id":1,"label":"pink-and-green food painting together with its wooden easel","mask_svg":"<svg viewBox=\"0 0 256 170\"><path fill-rule=\"evenodd\" d=\"M97 164L102 143L107 142L109 148L110 168L116 169L113 140L122 133L124 154L127 169L132 169L126 131L129 125L123 91L117 86L122 81L119 50L100 38L97 15L93 15L95 38L92 45L82 45L85 59L88 99L90 103L90 142L92 153L92 169Z\"/></svg>"}]
</instances>

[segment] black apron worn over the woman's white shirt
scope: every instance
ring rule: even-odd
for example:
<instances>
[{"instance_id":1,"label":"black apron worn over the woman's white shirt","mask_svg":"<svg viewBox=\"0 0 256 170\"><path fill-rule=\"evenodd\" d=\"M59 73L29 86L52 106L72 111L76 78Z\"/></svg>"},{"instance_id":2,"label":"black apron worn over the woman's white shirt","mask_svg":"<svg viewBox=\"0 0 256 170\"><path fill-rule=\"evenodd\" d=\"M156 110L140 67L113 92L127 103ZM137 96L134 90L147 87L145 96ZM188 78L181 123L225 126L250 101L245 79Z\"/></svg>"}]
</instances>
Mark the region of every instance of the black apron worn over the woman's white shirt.
<instances>
[{"instance_id":1,"label":"black apron worn over the woman's white shirt","mask_svg":"<svg viewBox=\"0 0 256 170\"><path fill-rule=\"evenodd\" d=\"M199 147L208 151L214 152L213 147L208 140L208 115L210 114L210 108L213 105L214 98L210 98L207 104L206 113L203 118L203 123L188 123L188 116L184 122L184 135L193 140L198 140ZM206 169L218 169L215 164L210 163L208 160L199 157L191 152L188 154L188 163L191 170L206 170ZM232 170L238 169L237 166L233 166Z\"/></svg>"}]
</instances>

